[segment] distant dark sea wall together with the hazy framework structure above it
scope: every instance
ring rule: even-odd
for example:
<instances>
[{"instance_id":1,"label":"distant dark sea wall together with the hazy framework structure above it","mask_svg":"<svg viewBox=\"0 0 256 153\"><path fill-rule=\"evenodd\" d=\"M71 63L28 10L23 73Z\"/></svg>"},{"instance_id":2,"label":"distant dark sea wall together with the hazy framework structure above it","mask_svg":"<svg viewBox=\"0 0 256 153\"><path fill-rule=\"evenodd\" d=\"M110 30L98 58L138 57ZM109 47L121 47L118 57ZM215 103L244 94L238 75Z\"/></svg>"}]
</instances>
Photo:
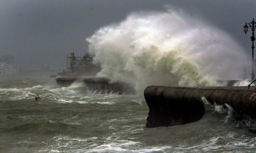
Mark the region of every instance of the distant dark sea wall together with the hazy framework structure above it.
<instances>
[{"instance_id":1,"label":"distant dark sea wall together with the hazy framework structure above it","mask_svg":"<svg viewBox=\"0 0 256 153\"><path fill-rule=\"evenodd\" d=\"M74 53L67 56L67 70L51 75L60 86L70 86L75 81L83 82L89 90L101 93L134 94L135 89L124 82L113 82L108 78L95 77L100 65L93 63L94 55L86 54L76 57Z\"/></svg>"}]
</instances>

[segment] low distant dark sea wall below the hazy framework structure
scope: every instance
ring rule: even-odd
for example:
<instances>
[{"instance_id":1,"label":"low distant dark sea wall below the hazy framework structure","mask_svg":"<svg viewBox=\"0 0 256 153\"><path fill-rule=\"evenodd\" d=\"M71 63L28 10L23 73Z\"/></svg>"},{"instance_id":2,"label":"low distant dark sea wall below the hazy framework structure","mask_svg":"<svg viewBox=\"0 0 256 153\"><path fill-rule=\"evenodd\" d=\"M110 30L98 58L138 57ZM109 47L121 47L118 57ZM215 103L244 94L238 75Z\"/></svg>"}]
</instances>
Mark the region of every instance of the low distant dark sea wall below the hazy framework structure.
<instances>
[{"instance_id":1,"label":"low distant dark sea wall below the hazy framework structure","mask_svg":"<svg viewBox=\"0 0 256 153\"><path fill-rule=\"evenodd\" d=\"M115 92L117 94L134 94L135 90L132 86L123 82L111 82L108 78L56 78L56 82L60 86L70 86L75 81L84 82L89 90L101 93Z\"/></svg>"}]
</instances>

